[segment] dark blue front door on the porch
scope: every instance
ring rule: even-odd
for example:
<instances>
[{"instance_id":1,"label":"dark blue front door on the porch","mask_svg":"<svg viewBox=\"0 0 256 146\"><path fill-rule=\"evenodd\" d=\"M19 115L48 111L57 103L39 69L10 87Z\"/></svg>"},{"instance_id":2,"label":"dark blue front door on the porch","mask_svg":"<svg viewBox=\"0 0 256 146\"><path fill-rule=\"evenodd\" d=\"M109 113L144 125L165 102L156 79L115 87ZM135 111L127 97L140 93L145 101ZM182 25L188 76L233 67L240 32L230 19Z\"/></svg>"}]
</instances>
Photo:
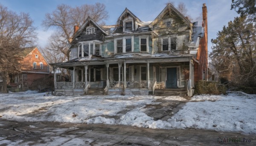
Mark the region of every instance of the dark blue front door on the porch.
<instances>
[{"instance_id":1,"label":"dark blue front door on the porch","mask_svg":"<svg viewBox=\"0 0 256 146\"><path fill-rule=\"evenodd\" d=\"M177 68L167 68L166 88L177 88Z\"/></svg>"}]
</instances>

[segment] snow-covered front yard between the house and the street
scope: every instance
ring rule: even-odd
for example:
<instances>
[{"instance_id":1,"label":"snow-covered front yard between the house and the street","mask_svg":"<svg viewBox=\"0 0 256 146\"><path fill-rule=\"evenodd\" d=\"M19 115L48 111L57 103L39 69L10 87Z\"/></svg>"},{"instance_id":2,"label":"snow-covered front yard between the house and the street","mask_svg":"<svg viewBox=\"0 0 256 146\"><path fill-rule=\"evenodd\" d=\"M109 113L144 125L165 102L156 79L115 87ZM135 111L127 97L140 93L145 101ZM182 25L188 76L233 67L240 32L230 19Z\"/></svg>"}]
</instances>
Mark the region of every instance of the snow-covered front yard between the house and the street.
<instances>
[{"instance_id":1,"label":"snow-covered front yard between the house and the street","mask_svg":"<svg viewBox=\"0 0 256 146\"><path fill-rule=\"evenodd\" d=\"M33 91L0 94L0 117L7 120L105 123L159 129L213 129L256 133L256 97L197 95L167 121L145 114L147 104L179 96L44 96Z\"/></svg>"}]
</instances>

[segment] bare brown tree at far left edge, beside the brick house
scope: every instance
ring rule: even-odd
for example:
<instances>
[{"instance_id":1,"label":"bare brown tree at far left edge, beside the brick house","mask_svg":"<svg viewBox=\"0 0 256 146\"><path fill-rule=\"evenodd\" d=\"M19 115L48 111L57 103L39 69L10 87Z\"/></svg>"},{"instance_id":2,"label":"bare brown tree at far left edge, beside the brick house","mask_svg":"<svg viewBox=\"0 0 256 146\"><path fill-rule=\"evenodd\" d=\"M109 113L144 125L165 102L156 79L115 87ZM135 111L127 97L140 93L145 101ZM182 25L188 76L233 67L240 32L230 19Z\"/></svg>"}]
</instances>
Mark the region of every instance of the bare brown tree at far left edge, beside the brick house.
<instances>
[{"instance_id":1,"label":"bare brown tree at far left edge, beside the brick house","mask_svg":"<svg viewBox=\"0 0 256 146\"><path fill-rule=\"evenodd\" d=\"M3 93L7 92L7 76L20 72L17 54L23 47L32 46L37 39L36 28L29 14L17 14L0 4L0 72Z\"/></svg>"}]
</instances>

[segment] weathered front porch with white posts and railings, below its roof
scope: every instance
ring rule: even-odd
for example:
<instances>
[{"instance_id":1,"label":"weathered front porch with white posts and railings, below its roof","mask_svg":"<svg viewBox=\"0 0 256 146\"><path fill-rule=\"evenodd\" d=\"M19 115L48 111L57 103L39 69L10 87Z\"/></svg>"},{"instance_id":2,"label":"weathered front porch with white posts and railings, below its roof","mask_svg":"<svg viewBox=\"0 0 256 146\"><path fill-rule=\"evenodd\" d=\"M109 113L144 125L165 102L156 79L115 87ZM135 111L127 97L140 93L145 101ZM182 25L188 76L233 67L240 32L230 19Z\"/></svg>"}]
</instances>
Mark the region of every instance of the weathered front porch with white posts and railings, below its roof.
<instances>
[{"instance_id":1,"label":"weathered front porch with white posts and railings, below its roof","mask_svg":"<svg viewBox=\"0 0 256 146\"><path fill-rule=\"evenodd\" d=\"M71 81L55 78L55 94L148 95L155 89L187 89L193 86L192 62L169 63L87 63L76 66L55 66L69 69ZM190 81L189 81L190 80ZM96 90L97 89L97 90ZM90 92L90 90L95 90ZM189 91L188 91L189 92ZM158 92L159 93L159 92Z\"/></svg>"}]
</instances>

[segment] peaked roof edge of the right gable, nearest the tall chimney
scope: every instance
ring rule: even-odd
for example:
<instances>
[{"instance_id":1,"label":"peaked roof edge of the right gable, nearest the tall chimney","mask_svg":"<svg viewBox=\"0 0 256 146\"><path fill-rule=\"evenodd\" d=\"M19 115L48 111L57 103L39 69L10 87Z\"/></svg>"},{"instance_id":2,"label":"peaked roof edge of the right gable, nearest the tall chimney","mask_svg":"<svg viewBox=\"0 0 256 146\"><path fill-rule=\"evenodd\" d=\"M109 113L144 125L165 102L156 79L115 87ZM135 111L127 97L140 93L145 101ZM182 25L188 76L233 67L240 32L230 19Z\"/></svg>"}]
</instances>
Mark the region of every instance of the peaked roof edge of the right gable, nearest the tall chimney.
<instances>
[{"instance_id":1,"label":"peaked roof edge of the right gable, nearest the tall chimney","mask_svg":"<svg viewBox=\"0 0 256 146\"><path fill-rule=\"evenodd\" d=\"M172 9L172 11L175 11L176 14L178 14L187 24L191 24L191 22L189 21L188 18L186 18L183 14L180 13L180 11L178 11L174 6L172 6L172 4L168 3L167 6L163 9L163 11L161 11L161 13L154 19L154 21L152 21L149 26L153 26L155 23L157 23L158 20L160 20L160 18L164 17L164 14L166 13L166 11L169 11L169 9Z\"/></svg>"}]
</instances>

